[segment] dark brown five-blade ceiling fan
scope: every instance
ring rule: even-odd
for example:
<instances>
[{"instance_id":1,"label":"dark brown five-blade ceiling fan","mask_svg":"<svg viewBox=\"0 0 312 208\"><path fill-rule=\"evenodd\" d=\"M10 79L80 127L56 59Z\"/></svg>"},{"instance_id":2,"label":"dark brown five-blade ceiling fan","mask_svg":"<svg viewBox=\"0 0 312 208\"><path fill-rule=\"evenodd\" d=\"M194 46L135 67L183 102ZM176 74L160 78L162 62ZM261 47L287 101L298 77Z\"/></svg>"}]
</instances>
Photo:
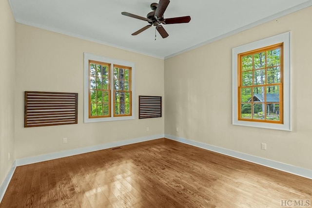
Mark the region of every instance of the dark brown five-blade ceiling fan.
<instances>
[{"instance_id":1,"label":"dark brown five-blade ceiling fan","mask_svg":"<svg viewBox=\"0 0 312 208\"><path fill-rule=\"evenodd\" d=\"M169 34L166 32L162 24L178 24L178 23L188 23L191 20L190 16L184 16L184 17L177 17L177 18L167 18L165 19L163 14L165 10L168 7L168 4L170 3L170 0L159 0L158 3L152 3L151 4L151 9L153 10L152 12L147 14L147 18L140 17L128 12L121 12L122 15L128 16L131 18L136 18L136 19L141 19L144 21L147 21L150 23L149 25L146 25L145 27L139 29L137 32L134 32L133 36L136 36L143 32L144 30L152 27L154 25L156 27L156 30L160 34L162 38L167 38Z\"/></svg>"}]
</instances>

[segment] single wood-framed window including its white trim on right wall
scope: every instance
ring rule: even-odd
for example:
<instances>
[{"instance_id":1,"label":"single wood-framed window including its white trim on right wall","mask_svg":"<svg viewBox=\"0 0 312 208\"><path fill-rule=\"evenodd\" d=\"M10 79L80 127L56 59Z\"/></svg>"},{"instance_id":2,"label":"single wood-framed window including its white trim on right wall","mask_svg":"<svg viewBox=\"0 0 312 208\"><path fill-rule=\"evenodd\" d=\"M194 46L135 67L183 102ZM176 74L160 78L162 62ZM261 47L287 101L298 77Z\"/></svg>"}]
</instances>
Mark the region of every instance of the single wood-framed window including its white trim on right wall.
<instances>
[{"instance_id":1,"label":"single wood-framed window including its white trim on right wall","mask_svg":"<svg viewBox=\"0 0 312 208\"><path fill-rule=\"evenodd\" d=\"M233 124L291 130L290 32L233 49Z\"/></svg>"}]
</instances>

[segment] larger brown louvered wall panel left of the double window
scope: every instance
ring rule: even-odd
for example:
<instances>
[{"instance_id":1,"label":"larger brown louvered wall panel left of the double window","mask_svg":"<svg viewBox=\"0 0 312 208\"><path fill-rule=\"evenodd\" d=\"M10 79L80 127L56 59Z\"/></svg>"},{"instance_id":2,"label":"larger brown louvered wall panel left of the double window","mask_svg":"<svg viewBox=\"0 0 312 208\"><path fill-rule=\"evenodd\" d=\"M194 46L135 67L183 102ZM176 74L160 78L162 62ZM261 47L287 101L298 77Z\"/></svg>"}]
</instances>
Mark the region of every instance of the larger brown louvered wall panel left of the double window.
<instances>
[{"instance_id":1,"label":"larger brown louvered wall panel left of the double window","mask_svg":"<svg viewBox=\"0 0 312 208\"><path fill-rule=\"evenodd\" d=\"M78 93L25 91L24 127L78 123Z\"/></svg>"}]
</instances>

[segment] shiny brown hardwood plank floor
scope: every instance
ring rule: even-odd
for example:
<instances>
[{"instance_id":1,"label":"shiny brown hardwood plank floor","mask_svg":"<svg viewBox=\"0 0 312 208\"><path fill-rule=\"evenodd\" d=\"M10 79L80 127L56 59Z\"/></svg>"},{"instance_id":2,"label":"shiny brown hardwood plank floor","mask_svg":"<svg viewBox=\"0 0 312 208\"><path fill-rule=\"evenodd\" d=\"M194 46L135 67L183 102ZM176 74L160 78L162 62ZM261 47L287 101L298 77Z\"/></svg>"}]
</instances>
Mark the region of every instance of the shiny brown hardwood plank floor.
<instances>
[{"instance_id":1,"label":"shiny brown hardwood plank floor","mask_svg":"<svg viewBox=\"0 0 312 208\"><path fill-rule=\"evenodd\" d=\"M17 167L0 208L278 208L281 200L311 207L312 180L162 138Z\"/></svg>"}]
</instances>

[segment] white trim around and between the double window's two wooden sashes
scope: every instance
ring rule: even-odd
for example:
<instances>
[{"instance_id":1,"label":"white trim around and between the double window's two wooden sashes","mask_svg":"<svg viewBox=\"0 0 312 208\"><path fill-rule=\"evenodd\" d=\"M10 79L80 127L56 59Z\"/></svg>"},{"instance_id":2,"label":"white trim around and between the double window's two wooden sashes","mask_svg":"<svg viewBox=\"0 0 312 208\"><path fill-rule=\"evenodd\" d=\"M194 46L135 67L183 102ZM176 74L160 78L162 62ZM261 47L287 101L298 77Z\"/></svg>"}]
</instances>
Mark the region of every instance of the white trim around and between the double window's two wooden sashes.
<instances>
[{"instance_id":1,"label":"white trim around and between the double window's two wooden sashes","mask_svg":"<svg viewBox=\"0 0 312 208\"><path fill-rule=\"evenodd\" d=\"M94 54L89 53L83 53L84 56L84 97L83 97L83 115L84 115L84 123L92 123L92 122L103 122L103 121L119 121L119 120L131 120L135 119L135 63L119 60L115 58L110 57L102 57ZM113 80L113 66L121 65L121 66L128 66L131 67L131 91L132 91L132 97L131 97L131 116L117 116L114 117L114 84L113 81L111 81L111 117L103 117L103 118L89 118L89 60L94 61L100 61L105 63L110 63L112 66L111 69L111 80Z\"/></svg>"}]
</instances>

